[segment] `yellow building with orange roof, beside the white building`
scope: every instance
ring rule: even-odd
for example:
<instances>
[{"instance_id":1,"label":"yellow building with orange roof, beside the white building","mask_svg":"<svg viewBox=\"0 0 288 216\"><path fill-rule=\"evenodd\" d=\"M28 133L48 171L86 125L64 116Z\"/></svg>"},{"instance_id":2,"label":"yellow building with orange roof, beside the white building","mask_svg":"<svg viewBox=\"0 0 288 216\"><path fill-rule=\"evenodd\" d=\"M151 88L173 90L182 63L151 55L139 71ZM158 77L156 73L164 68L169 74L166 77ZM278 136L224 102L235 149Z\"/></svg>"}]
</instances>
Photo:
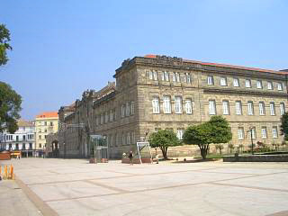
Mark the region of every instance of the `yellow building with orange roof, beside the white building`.
<instances>
[{"instance_id":1,"label":"yellow building with orange roof, beside the white building","mask_svg":"<svg viewBox=\"0 0 288 216\"><path fill-rule=\"evenodd\" d=\"M41 112L35 119L36 150L39 156L46 148L46 137L58 131L58 112Z\"/></svg>"}]
</instances>

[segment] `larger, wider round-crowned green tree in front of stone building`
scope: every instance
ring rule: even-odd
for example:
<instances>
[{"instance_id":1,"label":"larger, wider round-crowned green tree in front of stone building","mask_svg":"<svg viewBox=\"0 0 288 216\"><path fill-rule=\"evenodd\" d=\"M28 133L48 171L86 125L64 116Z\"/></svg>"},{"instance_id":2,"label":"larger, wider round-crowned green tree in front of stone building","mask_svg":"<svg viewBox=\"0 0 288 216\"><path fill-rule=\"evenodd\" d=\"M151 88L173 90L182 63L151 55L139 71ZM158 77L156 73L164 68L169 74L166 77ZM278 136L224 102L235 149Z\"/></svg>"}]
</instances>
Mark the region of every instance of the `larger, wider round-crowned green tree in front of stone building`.
<instances>
[{"instance_id":1,"label":"larger, wider round-crowned green tree in front of stone building","mask_svg":"<svg viewBox=\"0 0 288 216\"><path fill-rule=\"evenodd\" d=\"M184 143L200 148L202 159L206 158L211 143L227 143L231 139L229 122L221 116L212 116L210 121L190 126L183 135Z\"/></svg>"}]
</instances>

